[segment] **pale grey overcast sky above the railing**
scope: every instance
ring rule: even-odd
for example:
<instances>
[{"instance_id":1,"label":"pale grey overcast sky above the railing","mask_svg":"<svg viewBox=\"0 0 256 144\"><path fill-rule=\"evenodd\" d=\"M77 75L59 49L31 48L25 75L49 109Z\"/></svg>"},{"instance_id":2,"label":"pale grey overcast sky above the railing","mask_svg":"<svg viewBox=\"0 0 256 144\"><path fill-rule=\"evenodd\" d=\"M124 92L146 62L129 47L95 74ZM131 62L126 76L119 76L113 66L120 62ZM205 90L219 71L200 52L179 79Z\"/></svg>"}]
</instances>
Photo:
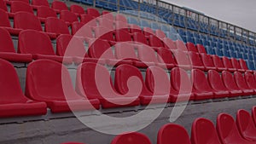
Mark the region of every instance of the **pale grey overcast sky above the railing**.
<instances>
[{"instance_id":1,"label":"pale grey overcast sky above the railing","mask_svg":"<svg viewBox=\"0 0 256 144\"><path fill-rule=\"evenodd\" d=\"M256 0L164 0L256 32Z\"/></svg>"}]
</instances>

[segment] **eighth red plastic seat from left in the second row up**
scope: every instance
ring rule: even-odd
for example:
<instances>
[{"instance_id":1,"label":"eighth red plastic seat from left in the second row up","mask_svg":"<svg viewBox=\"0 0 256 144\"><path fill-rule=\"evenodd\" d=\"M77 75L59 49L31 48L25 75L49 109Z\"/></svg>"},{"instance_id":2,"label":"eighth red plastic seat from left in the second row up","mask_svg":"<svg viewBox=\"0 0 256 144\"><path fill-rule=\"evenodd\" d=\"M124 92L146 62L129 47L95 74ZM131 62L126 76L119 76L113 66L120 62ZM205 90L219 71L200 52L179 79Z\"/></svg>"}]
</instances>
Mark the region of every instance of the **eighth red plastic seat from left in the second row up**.
<instances>
[{"instance_id":1,"label":"eighth red plastic seat from left in the second row up","mask_svg":"<svg viewBox=\"0 0 256 144\"><path fill-rule=\"evenodd\" d=\"M232 92L229 91L229 89L227 89L224 86L223 80L221 79L220 75L218 74L218 72L214 71L214 70L210 70L207 73L207 78L208 78L208 82L211 85L212 89L214 89L215 91L218 91L219 93L223 94L223 97L229 97L231 96L238 96Z\"/></svg>"}]
</instances>

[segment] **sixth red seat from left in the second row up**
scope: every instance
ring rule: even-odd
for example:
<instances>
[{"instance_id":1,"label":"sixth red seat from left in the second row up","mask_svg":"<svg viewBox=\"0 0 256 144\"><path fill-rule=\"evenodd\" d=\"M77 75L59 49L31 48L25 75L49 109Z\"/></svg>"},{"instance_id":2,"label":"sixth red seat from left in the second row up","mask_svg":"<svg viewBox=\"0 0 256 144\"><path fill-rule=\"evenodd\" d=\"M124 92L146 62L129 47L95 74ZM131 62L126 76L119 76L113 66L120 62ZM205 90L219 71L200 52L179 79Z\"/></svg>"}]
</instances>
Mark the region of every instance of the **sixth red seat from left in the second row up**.
<instances>
[{"instance_id":1,"label":"sixth red seat from left in the second row up","mask_svg":"<svg viewBox=\"0 0 256 144\"><path fill-rule=\"evenodd\" d=\"M193 101L195 95L192 93L193 85L189 75L182 68L174 67L171 71L171 102Z\"/></svg>"}]
</instances>

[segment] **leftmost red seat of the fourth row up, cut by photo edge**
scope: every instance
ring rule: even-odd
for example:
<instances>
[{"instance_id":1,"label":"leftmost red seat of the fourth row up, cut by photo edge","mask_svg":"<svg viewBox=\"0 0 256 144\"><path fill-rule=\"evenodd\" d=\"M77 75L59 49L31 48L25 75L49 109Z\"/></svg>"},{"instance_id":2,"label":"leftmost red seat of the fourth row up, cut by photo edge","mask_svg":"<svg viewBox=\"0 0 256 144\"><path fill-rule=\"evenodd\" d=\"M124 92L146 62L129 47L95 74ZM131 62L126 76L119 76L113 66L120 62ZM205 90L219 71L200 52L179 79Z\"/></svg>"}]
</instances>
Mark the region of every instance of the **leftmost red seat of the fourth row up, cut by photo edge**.
<instances>
[{"instance_id":1,"label":"leftmost red seat of the fourth row up, cut by photo edge","mask_svg":"<svg viewBox=\"0 0 256 144\"><path fill-rule=\"evenodd\" d=\"M6 29L11 35L18 36L21 29L16 29L11 27L10 21L9 21L9 16L6 11L3 9L0 9L0 27Z\"/></svg>"}]
</instances>

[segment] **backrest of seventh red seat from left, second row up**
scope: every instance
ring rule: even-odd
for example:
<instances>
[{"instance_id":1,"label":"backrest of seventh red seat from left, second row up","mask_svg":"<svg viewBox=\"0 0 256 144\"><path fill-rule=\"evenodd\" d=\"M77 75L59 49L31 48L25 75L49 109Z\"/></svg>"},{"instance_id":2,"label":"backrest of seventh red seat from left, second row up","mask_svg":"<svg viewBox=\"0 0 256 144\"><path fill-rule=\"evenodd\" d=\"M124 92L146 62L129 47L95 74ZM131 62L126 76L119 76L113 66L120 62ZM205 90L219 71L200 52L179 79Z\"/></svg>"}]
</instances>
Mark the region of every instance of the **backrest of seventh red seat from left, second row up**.
<instances>
[{"instance_id":1,"label":"backrest of seventh red seat from left, second row up","mask_svg":"<svg viewBox=\"0 0 256 144\"><path fill-rule=\"evenodd\" d=\"M198 69L193 69L191 79L195 89L200 91L212 91L210 84L205 76L205 73Z\"/></svg>"}]
</instances>

